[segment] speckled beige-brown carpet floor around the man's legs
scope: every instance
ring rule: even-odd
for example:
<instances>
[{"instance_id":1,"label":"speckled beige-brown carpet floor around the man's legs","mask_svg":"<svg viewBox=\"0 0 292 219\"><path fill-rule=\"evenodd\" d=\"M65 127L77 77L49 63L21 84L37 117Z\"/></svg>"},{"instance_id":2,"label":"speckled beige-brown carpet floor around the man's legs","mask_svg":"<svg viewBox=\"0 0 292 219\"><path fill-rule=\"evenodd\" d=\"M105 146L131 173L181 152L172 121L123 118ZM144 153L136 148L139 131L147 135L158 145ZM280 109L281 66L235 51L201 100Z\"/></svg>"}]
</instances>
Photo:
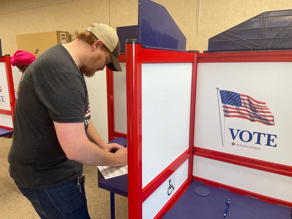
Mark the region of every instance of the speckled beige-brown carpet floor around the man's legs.
<instances>
[{"instance_id":1,"label":"speckled beige-brown carpet floor around the man's legs","mask_svg":"<svg viewBox=\"0 0 292 219\"><path fill-rule=\"evenodd\" d=\"M0 219L39 218L30 202L20 193L9 176L7 155L12 138L0 137ZM97 167L84 165L86 197L92 219L109 219L109 192L97 186ZM116 195L116 219L128 218L128 199Z\"/></svg>"}]
</instances>

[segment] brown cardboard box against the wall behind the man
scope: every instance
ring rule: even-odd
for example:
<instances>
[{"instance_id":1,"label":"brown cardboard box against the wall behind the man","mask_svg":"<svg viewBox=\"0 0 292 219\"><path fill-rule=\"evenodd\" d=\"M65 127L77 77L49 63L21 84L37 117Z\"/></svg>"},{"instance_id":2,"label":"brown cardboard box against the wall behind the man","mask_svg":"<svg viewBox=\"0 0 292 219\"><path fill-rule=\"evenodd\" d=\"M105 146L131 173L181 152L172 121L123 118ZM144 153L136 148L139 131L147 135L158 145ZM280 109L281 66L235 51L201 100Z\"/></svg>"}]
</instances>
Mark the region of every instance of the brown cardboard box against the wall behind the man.
<instances>
[{"instance_id":1,"label":"brown cardboard box against the wall behind the man","mask_svg":"<svg viewBox=\"0 0 292 219\"><path fill-rule=\"evenodd\" d=\"M17 49L39 57L48 48L61 43L69 43L69 32L50 31L42 33L16 34Z\"/></svg>"}]
</instances>

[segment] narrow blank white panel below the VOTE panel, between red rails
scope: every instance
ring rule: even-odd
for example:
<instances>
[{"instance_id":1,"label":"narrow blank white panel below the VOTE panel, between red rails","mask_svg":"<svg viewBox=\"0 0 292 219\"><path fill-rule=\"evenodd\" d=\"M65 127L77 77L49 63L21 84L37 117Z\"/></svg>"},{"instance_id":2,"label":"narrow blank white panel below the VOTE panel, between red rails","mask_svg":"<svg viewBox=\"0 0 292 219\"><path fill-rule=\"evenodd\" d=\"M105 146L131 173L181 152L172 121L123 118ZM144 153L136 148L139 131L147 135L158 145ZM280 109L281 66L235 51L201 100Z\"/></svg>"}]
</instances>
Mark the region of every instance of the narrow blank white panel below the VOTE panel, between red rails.
<instances>
[{"instance_id":1,"label":"narrow blank white panel below the VOTE panel, between red rails","mask_svg":"<svg viewBox=\"0 0 292 219\"><path fill-rule=\"evenodd\" d=\"M194 156L193 175L292 202L292 177Z\"/></svg>"}]
</instances>

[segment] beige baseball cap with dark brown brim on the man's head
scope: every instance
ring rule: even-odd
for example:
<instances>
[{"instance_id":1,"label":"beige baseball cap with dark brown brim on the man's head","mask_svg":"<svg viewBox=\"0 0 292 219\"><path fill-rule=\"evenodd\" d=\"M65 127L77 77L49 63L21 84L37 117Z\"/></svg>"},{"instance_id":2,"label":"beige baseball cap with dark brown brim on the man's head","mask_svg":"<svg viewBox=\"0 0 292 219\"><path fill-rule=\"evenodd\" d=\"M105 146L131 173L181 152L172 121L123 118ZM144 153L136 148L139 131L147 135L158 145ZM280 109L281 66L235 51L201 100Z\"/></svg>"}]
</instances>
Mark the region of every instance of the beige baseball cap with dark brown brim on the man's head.
<instances>
[{"instance_id":1,"label":"beige baseball cap with dark brown brim on the man's head","mask_svg":"<svg viewBox=\"0 0 292 219\"><path fill-rule=\"evenodd\" d=\"M109 50L113 62L107 64L106 66L112 71L122 71L122 67L118 59L121 46L118 35L116 35L116 31L114 31L112 27L101 23L94 23L86 30L96 36L97 39L103 40L103 44Z\"/></svg>"}]
</instances>

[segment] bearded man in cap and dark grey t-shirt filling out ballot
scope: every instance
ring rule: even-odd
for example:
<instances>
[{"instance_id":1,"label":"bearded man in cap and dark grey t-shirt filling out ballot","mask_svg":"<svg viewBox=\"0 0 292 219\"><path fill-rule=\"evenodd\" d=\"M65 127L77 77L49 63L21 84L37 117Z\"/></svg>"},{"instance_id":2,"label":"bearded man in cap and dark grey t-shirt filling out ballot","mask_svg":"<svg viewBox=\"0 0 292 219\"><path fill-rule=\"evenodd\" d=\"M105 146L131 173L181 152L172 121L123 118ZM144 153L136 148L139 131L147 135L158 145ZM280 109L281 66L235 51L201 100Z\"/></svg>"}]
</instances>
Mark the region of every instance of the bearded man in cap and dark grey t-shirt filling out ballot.
<instances>
[{"instance_id":1,"label":"bearded man in cap and dark grey t-shirt filling out ballot","mask_svg":"<svg viewBox=\"0 0 292 219\"><path fill-rule=\"evenodd\" d=\"M15 106L9 173L40 218L90 218L83 164L127 164L127 148L106 144L90 122L83 76L121 71L118 36L97 23L75 34L26 69Z\"/></svg>"}]
</instances>

